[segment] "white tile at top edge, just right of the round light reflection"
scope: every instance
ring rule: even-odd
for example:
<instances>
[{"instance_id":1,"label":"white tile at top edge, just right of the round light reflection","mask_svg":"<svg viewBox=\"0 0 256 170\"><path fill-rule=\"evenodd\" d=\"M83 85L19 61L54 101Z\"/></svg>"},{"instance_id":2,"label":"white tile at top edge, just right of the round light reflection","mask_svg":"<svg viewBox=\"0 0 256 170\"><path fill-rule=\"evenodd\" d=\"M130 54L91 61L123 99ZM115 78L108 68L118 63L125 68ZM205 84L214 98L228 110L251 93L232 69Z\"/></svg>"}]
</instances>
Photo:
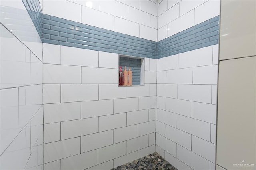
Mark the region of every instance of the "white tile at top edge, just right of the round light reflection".
<instances>
[{"instance_id":1,"label":"white tile at top edge, just right of the round light reflection","mask_svg":"<svg viewBox=\"0 0 256 170\"><path fill-rule=\"evenodd\" d=\"M99 10L120 18L128 18L128 6L115 0L99 1Z\"/></svg>"}]
</instances>

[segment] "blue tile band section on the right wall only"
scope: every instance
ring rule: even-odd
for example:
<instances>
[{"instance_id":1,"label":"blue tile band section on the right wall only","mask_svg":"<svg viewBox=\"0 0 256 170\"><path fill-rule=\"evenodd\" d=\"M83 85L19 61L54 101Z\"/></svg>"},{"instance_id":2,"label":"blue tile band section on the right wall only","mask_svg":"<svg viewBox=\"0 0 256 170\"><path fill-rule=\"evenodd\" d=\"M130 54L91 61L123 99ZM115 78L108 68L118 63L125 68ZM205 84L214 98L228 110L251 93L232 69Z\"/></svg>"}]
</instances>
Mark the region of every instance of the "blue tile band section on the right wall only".
<instances>
[{"instance_id":1,"label":"blue tile band section on the right wall only","mask_svg":"<svg viewBox=\"0 0 256 170\"><path fill-rule=\"evenodd\" d=\"M158 42L157 58L218 44L219 16Z\"/></svg>"}]
</instances>

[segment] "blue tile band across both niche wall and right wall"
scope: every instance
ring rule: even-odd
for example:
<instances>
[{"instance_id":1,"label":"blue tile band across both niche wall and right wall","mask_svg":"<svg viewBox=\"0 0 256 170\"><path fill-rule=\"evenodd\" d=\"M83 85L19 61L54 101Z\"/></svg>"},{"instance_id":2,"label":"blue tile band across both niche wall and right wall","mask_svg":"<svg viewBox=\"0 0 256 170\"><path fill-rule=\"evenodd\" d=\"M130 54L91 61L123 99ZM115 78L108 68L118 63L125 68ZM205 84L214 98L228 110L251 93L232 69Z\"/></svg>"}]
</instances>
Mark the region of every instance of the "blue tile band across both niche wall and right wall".
<instances>
[{"instance_id":1,"label":"blue tile band across both niche wall and right wall","mask_svg":"<svg viewBox=\"0 0 256 170\"><path fill-rule=\"evenodd\" d=\"M218 44L219 18L216 16L154 42L42 14L42 42L158 59Z\"/></svg>"}]
</instances>

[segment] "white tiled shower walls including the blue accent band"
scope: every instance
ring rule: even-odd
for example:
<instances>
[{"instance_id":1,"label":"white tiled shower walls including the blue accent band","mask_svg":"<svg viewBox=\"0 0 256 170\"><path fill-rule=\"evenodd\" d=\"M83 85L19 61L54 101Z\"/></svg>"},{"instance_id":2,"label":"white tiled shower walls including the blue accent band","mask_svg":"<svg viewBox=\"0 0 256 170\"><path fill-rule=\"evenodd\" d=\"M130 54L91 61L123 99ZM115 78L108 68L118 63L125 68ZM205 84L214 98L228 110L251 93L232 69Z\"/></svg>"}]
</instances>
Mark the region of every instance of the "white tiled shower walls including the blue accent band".
<instances>
[{"instance_id":1,"label":"white tiled shower walls including the blue accent band","mask_svg":"<svg viewBox=\"0 0 256 170\"><path fill-rule=\"evenodd\" d=\"M1 169L215 169L220 2L86 2L1 1Z\"/></svg>"}]
</instances>

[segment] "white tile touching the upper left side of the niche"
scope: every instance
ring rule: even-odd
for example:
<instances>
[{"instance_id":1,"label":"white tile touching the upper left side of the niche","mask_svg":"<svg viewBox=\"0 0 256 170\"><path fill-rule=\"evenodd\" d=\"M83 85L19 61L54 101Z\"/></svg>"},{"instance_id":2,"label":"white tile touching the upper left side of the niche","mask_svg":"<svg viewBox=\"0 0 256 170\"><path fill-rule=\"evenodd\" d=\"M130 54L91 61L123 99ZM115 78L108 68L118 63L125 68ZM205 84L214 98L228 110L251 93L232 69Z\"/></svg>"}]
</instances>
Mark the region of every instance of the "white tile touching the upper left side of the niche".
<instances>
[{"instance_id":1,"label":"white tile touching the upper left side of the niche","mask_svg":"<svg viewBox=\"0 0 256 170\"><path fill-rule=\"evenodd\" d=\"M118 69L118 54L99 51L99 67Z\"/></svg>"}]
</instances>

